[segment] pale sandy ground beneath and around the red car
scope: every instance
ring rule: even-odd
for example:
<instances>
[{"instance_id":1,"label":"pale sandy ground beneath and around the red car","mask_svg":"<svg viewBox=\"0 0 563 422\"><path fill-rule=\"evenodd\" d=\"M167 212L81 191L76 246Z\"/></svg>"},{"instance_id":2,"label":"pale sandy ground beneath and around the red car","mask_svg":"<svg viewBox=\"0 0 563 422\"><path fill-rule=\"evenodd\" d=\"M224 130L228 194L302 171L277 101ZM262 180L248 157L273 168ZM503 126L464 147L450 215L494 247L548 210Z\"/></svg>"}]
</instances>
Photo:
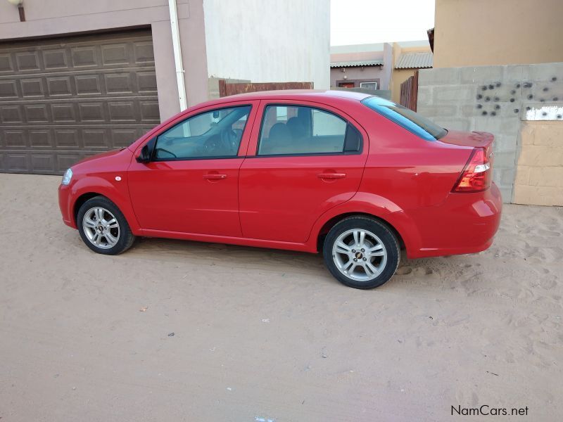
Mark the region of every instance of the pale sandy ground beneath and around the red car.
<instances>
[{"instance_id":1,"label":"pale sandy ground beneath and around the red car","mask_svg":"<svg viewBox=\"0 0 563 422\"><path fill-rule=\"evenodd\" d=\"M97 255L61 222L59 180L0 174L1 422L561 420L561 208L508 205L490 250L362 291L320 255Z\"/></svg>"}]
</instances>

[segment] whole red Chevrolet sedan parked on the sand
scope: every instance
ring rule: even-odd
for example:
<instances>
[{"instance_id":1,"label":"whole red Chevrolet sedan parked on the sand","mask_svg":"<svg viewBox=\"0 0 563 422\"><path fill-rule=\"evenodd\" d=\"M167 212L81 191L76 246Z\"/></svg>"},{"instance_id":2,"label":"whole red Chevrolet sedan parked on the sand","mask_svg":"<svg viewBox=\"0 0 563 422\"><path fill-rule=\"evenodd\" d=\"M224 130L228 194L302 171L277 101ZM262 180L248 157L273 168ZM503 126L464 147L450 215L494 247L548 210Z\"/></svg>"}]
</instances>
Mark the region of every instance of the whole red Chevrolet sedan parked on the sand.
<instances>
[{"instance_id":1,"label":"whole red Chevrolet sedan parked on the sand","mask_svg":"<svg viewBox=\"0 0 563 422\"><path fill-rule=\"evenodd\" d=\"M322 252L374 288L409 258L479 252L500 222L493 135L455 132L377 96L269 91L179 113L72 166L63 221L114 255L136 236Z\"/></svg>"}]
</instances>

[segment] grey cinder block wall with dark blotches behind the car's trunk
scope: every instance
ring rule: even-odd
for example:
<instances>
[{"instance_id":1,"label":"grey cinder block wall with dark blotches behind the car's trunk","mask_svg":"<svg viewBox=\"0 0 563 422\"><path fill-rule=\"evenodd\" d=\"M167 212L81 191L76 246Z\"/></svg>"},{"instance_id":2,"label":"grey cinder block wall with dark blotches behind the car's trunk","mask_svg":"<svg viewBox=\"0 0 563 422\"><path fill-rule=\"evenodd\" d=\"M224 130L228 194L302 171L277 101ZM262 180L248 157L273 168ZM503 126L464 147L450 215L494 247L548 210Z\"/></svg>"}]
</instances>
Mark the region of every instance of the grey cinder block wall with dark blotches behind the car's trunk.
<instances>
[{"instance_id":1,"label":"grey cinder block wall with dark blotches behind the car's trunk","mask_svg":"<svg viewBox=\"0 0 563 422\"><path fill-rule=\"evenodd\" d=\"M563 106L563 63L419 72L418 113L446 129L479 130L495 135L493 179L505 202L514 200L522 120L533 119L528 112L545 106ZM562 115L542 113L536 113L539 120L563 122ZM559 142L563 148L563 139Z\"/></svg>"}]
</instances>

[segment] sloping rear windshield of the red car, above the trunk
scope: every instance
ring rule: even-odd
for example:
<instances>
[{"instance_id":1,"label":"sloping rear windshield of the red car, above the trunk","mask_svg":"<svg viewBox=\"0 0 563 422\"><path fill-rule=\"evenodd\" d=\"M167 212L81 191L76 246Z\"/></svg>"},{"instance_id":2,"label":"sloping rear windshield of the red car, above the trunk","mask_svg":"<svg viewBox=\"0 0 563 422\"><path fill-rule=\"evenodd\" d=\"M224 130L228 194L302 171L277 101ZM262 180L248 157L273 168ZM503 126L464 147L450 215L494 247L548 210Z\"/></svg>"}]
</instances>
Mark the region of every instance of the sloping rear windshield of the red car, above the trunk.
<instances>
[{"instance_id":1,"label":"sloping rear windshield of the red car, above the trunk","mask_svg":"<svg viewBox=\"0 0 563 422\"><path fill-rule=\"evenodd\" d=\"M422 139L426 139L426 141L436 141L448 133L443 127L434 124L426 117L422 117L422 115L384 98L372 96L362 100L362 103L392 122L404 127L407 131Z\"/></svg>"}]
</instances>

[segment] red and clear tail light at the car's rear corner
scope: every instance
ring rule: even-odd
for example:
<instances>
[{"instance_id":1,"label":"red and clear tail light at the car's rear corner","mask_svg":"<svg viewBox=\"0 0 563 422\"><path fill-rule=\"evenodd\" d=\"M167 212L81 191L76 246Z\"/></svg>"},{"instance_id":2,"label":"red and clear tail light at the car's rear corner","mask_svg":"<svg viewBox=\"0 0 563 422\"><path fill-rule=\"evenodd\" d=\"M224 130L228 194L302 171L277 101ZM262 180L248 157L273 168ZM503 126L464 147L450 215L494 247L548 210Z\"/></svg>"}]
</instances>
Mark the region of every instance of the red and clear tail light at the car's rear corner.
<instances>
[{"instance_id":1,"label":"red and clear tail light at the car's rear corner","mask_svg":"<svg viewBox=\"0 0 563 422\"><path fill-rule=\"evenodd\" d=\"M490 148L474 148L452 192L480 192L491 186L493 169Z\"/></svg>"}]
</instances>

